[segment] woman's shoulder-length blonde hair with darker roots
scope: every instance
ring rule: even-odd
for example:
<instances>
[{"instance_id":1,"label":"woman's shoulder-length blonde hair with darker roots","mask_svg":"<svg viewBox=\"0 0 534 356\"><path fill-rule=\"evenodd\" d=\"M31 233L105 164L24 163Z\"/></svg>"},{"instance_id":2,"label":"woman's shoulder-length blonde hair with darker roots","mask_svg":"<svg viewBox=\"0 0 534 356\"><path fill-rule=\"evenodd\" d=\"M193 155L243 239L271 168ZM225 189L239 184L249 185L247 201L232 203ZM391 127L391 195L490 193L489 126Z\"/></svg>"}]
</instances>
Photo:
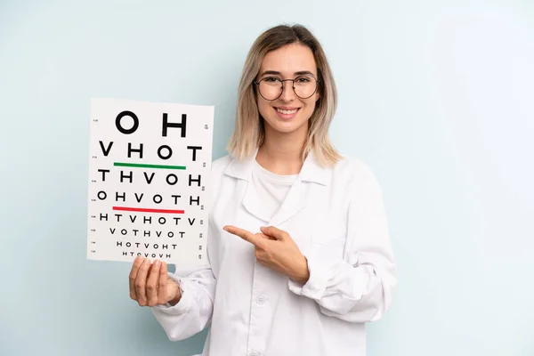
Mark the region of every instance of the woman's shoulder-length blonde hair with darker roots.
<instances>
[{"instance_id":1,"label":"woman's shoulder-length blonde hair with darker roots","mask_svg":"<svg viewBox=\"0 0 534 356\"><path fill-rule=\"evenodd\" d=\"M320 99L309 120L308 137L303 147L303 159L312 150L323 166L341 158L328 138L328 127L337 107L336 83L328 65L327 56L319 41L301 25L279 25L260 35L250 48L239 82L238 108L234 132L228 151L238 159L247 158L258 149L265 138L263 119L260 119L255 95L255 77L262 66L265 54L287 44L303 44L312 50L317 64Z\"/></svg>"}]
</instances>

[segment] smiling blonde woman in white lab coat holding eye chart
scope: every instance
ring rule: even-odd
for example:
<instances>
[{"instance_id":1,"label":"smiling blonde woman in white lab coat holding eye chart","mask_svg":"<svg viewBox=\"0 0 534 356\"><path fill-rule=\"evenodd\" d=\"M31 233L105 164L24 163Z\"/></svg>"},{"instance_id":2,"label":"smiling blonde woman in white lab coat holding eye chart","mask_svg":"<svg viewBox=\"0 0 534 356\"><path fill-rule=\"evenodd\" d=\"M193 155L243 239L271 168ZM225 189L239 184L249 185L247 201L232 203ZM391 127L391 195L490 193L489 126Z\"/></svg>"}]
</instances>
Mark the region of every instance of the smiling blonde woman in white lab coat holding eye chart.
<instances>
[{"instance_id":1,"label":"smiling blonde woman in white lab coat holding eye chart","mask_svg":"<svg viewBox=\"0 0 534 356\"><path fill-rule=\"evenodd\" d=\"M210 267L138 258L130 294L171 340L210 326L203 355L366 353L396 285L382 193L328 141L336 86L317 39L278 26L253 44L230 155L212 166Z\"/></svg>"}]
</instances>

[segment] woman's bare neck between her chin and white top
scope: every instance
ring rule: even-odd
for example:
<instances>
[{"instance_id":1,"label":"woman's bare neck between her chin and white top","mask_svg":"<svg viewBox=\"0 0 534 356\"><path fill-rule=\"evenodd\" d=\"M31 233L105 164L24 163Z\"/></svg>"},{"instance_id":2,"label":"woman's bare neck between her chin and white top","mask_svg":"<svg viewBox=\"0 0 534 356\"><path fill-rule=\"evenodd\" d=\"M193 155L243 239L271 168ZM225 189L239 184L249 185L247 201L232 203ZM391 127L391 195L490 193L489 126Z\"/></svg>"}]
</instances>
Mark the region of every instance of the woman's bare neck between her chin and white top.
<instances>
[{"instance_id":1,"label":"woman's bare neck between her chin and white top","mask_svg":"<svg viewBox=\"0 0 534 356\"><path fill-rule=\"evenodd\" d=\"M256 161L275 174L298 174L303 166L303 146L308 127L284 134L265 125L265 140L258 150Z\"/></svg>"}]
</instances>

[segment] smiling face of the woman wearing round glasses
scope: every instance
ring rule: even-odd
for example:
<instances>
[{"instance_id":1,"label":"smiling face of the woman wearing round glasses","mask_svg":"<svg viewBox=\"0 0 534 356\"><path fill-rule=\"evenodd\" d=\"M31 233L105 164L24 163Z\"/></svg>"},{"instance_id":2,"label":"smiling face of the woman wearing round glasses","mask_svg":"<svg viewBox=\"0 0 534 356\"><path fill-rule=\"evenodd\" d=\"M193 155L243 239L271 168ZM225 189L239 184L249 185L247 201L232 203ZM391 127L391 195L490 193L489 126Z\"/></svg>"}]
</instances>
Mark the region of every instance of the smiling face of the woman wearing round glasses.
<instances>
[{"instance_id":1,"label":"smiling face of the woman wearing round glasses","mask_svg":"<svg viewBox=\"0 0 534 356\"><path fill-rule=\"evenodd\" d=\"M314 88L314 78L317 78L317 65L313 58L312 50L303 44L287 44L277 50L267 53L263 58L262 67L256 80L259 82L267 78L259 89L262 93L271 90L276 96L276 89L279 88L280 80L295 79L299 77L298 83L295 83L297 93L301 97L308 96L312 92L306 92L309 88ZM310 82L307 82L310 80ZM271 96L256 91L256 101L260 115L264 119L265 130L270 128L283 134L291 134L302 131L307 134L308 119L312 117L315 109L315 102L319 99L319 91L316 90L311 97L301 99L293 90L291 81L282 82L284 90L276 100L266 100L263 96L270 99ZM270 89L263 90L263 88ZM310 86L312 85L312 86ZM319 86L319 85L317 85ZM308 89L306 89L308 88ZM256 88L258 89L258 88Z\"/></svg>"}]
</instances>

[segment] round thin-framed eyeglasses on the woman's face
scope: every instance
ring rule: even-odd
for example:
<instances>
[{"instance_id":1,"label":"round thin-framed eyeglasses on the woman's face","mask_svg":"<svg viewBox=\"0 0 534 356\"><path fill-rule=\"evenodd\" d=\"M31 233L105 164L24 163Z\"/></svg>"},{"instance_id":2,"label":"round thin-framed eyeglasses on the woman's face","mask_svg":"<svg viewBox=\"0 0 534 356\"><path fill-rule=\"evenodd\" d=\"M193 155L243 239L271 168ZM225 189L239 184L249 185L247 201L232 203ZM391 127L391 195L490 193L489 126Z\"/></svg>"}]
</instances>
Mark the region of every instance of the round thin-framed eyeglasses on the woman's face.
<instances>
[{"instance_id":1,"label":"round thin-framed eyeglasses on the woman's face","mask_svg":"<svg viewBox=\"0 0 534 356\"><path fill-rule=\"evenodd\" d=\"M293 91L301 99L308 99L317 92L319 79L310 75L298 76L295 79L280 79L279 77L264 77L255 81L260 95L267 101L277 100L284 92L284 82L293 82Z\"/></svg>"}]
</instances>

